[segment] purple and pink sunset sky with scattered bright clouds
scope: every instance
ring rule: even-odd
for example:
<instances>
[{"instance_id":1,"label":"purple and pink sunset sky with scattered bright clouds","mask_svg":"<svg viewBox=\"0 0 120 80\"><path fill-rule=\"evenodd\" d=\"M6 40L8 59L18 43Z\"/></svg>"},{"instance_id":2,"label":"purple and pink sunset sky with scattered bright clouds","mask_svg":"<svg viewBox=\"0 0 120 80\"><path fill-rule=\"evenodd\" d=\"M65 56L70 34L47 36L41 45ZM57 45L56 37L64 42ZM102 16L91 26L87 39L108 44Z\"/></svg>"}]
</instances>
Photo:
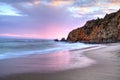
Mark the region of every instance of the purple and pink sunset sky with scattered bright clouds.
<instances>
[{"instance_id":1,"label":"purple and pink sunset sky with scattered bright clouds","mask_svg":"<svg viewBox=\"0 0 120 80\"><path fill-rule=\"evenodd\" d=\"M0 0L0 36L67 38L87 20L120 9L120 0Z\"/></svg>"}]
</instances>

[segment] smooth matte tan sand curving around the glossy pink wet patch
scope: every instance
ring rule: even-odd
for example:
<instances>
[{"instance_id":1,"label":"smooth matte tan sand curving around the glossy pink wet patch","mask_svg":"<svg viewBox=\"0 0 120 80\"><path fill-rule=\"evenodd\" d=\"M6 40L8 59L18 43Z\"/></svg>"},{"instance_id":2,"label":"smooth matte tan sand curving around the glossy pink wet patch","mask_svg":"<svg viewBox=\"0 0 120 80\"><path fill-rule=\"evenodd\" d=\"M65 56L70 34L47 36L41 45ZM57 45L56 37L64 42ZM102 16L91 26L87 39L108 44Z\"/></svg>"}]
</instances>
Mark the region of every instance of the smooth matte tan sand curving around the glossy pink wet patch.
<instances>
[{"instance_id":1,"label":"smooth matte tan sand curving around the glossy pink wet patch","mask_svg":"<svg viewBox=\"0 0 120 80\"><path fill-rule=\"evenodd\" d=\"M68 69L52 73L22 73L9 75L0 80L119 80L120 44L109 44L104 48L83 51L83 56L95 60L97 63L84 68ZM77 53L80 51L77 50ZM70 54L74 54L71 51ZM104 54L103 54L104 53Z\"/></svg>"}]
</instances>

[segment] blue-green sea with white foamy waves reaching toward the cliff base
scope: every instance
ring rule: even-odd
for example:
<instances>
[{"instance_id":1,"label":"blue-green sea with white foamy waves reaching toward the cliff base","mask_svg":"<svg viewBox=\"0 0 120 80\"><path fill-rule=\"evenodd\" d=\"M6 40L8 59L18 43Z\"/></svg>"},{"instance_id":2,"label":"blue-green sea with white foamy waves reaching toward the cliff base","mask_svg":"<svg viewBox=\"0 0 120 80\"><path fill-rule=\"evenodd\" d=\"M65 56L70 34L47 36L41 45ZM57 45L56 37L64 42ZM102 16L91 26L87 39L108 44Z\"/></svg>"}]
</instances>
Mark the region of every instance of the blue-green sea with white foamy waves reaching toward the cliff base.
<instances>
[{"instance_id":1,"label":"blue-green sea with white foamy waves reaching toward the cliff base","mask_svg":"<svg viewBox=\"0 0 120 80\"><path fill-rule=\"evenodd\" d=\"M0 60L28 56L31 54L48 54L56 51L82 49L96 46L84 43L56 42L47 39L0 39ZM98 44L97 44L98 46Z\"/></svg>"}]
</instances>

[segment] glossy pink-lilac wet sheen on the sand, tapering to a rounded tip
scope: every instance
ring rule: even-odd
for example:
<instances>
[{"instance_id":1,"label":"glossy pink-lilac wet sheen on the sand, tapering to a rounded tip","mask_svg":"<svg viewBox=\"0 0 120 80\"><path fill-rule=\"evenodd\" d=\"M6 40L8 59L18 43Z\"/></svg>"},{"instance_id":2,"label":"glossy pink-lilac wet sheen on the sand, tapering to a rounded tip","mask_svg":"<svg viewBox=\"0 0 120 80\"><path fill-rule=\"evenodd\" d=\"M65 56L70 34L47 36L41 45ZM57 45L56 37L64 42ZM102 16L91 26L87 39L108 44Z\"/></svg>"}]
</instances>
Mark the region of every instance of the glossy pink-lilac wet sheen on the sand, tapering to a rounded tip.
<instances>
[{"instance_id":1,"label":"glossy pink-lilac wet sheen on the sand, tapering to a rounded tip","mask_svg":"<svg viewBox=\"0 0 120 80\"><path fill-rule=\"evenodd\" d=\"M80 55L80 51L79 53L76 51L74 54L72 54L71 51L59 51L49 54L35 54L21 58L1 60L0 75L28 72L49 73L85 67L94 62Z\"/></svg>"}]
</instances>

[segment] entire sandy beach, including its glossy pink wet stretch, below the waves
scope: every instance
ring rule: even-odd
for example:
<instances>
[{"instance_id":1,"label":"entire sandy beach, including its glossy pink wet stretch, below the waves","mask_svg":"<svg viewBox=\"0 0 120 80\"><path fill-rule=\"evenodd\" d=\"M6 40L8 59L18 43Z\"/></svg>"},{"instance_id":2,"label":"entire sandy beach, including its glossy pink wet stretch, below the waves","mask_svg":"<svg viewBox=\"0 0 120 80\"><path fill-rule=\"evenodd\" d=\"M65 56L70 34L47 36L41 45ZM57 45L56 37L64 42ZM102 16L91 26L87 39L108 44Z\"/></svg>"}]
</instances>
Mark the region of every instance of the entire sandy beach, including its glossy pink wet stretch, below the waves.
<instances>
[{"instance_id":1,"label":"entire sandy beach, including its glossy pink wet stretch, below the waves","mask_svg":"<svg viewBox=\"0 0 120 80\"><path fill-rule=\"evenodd\" d=\"M0 80L120 80L119 48L120 43L113 43L96 49L59 52L57 55L1 60ZM29 67L28 63L35 65ZM44 66L39 65L41 63ZM54 64L48 66L48 63Z\"/></svg>"}]
</instances>

